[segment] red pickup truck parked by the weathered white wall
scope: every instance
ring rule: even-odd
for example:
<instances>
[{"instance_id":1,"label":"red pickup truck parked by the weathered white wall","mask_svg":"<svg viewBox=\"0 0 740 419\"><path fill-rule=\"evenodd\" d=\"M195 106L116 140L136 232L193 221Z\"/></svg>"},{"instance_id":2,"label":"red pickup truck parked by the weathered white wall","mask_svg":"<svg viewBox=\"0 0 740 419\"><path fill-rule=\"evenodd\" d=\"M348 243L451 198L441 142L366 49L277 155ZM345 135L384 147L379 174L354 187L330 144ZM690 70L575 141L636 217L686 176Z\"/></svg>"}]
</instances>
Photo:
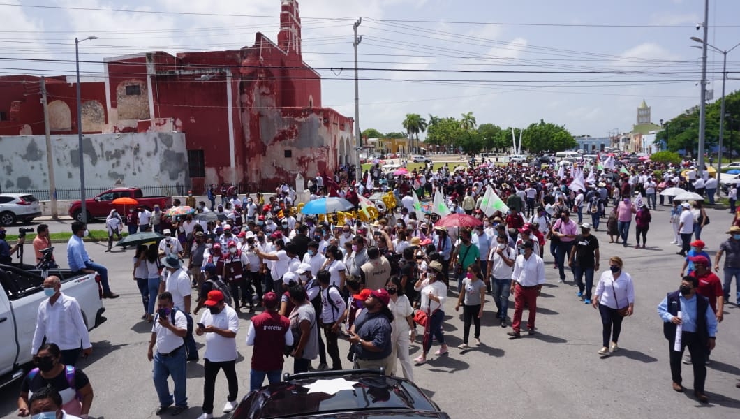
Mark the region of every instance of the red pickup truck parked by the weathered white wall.
<instances>
[{"instance_id":1,"label":"red pickup truck parked by the weathered white wall","mask_svg":"<svg viewBox=\"0 0 740 419\"><path fill-rule=\"evenodd\" d=\"M138 205L147 210L152 210L155 205L158 205L162 210L172 207L171 196L144 197L144 193L138 188L113 188L101 193L95 198L85 200L87 221L92 221L95 218L105 218L110 214L110 210L114 208L118 210L121 216L125 217L126 210L131 206L112 204L116 198L134 198L138 201ZM82 221L82 201L75 201L70 205L70 217L76 221Z\"/></svg>"}]
</instances>

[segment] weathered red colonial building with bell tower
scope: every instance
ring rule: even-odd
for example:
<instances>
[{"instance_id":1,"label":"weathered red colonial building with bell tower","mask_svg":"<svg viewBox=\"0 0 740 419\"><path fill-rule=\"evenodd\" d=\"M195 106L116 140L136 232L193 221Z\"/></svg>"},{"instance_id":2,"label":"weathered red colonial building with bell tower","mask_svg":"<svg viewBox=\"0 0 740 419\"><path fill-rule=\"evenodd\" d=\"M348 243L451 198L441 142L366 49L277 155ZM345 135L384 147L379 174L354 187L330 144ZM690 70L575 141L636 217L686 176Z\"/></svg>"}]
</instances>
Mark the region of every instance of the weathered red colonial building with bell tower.
<instances>
[{"instance_id":1,"label":"weathered red colonial building with bell tower","mask_svg":"<svg viewBox=\"0 0 740 419\"><path fill-rule=\"evenodd\" d=\"M104 59L104 75L46 78L52 134L185 133L189 176L249 190L294 184L356 163L353 120L321 107L321 78L303 62L295 0L281 1L277 44L262 33L231 51L140 53ZM0 77L0 135L43 135L35 76Z\"/></svg>"}]
</instances>

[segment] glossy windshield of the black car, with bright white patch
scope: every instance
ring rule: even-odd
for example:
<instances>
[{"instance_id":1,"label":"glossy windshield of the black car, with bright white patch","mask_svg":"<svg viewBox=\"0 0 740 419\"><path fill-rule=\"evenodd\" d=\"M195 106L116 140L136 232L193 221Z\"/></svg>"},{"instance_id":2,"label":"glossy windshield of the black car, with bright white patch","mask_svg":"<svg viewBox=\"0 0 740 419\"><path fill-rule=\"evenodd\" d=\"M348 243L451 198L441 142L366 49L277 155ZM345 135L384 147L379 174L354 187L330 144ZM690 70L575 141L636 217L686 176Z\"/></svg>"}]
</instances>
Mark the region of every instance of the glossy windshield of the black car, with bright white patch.
<instances>
[{"instance_id":1,"label":"glossy windshield of the black car, with bright white patch","mask_svg":"<svg viewBox=\"0 0 740 419\"><path fill-rule=\"evenodd\" d=\"M252 398L252 403L248 404L252 406L252 412L246 416L248 418L253 417L252 413L259 413L260 418L280 418L348 410L436 410L422 395L418 395L416 389L390 377L346 376L331 380L289 381L277 388L267 386L255 392Z\"/></svg>"}]
</instances>

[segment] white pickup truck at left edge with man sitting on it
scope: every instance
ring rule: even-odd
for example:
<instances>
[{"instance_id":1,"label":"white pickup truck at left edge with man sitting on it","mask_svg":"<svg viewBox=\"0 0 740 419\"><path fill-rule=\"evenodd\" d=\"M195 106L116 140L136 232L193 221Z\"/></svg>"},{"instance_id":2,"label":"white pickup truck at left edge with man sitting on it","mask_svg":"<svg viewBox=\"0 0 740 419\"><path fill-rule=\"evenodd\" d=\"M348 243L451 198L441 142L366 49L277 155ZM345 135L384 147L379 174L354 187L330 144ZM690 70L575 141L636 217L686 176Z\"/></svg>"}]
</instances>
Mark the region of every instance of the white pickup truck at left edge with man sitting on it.
<instances>
[{"instance_id":1,"label":"white pickup truck at left edge with man sitting on it","mask_svg":"<svg viewBox=\"0 0 740 419\"><path fill-rule=\"evenodd\" d=\"M69 269L52 269L61 277L61 292L74 297L88 330L105 321L98 274L73 275ZM44 278L38 269L0 264L0 388L24 376L32 361L31 342L41 301Z\"/></svg>"}]
</instances>

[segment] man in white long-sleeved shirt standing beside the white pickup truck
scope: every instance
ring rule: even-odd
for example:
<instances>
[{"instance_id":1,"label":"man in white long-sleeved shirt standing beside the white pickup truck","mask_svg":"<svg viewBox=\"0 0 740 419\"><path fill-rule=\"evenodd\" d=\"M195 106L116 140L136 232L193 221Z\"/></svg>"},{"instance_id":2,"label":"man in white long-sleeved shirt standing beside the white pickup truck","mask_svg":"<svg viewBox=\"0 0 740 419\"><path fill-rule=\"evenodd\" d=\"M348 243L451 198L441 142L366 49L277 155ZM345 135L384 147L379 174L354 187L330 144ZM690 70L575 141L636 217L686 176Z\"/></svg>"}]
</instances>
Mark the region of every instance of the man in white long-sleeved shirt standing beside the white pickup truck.
<instances>
[{"instance_id":1,"label":"man in white long-sleeved shirt standing beside the white pickup truck","mask_svg":"<svg viewBox=\"0 0 740 419\"><path fill-rule=\"evenodd\" d=\"M46 278L43 286L49 298L38 306L31 355L36 356L46 336L46 343L56 343L61 349L61 363L74 366L80 352L85 356L92 353L82 309L75 298L61 292L61 280L57 276Z\"/></svg>"}]
</instances>

